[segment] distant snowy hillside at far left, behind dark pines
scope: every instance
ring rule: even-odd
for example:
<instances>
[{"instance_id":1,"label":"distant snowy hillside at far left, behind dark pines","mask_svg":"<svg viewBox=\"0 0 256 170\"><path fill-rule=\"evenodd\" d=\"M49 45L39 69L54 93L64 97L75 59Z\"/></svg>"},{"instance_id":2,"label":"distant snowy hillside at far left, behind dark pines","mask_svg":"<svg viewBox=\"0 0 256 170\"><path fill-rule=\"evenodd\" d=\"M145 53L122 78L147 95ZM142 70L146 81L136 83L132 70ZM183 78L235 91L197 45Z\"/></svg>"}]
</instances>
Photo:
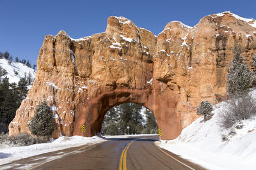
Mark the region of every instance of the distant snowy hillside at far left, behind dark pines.
<instances>
[{"instance_id":1,"label":"distant snowy hillside at far left, behind dark pines","mask_svg":"<svg viewBox=\"0 0 256 170\"><path fill-rule=\"evenodd\" d=\"M32 78L35 78L35 75L36 75L36 72L34 69L20 62L12 62L12 64L9 65L8 60L0 59L0 66L2 67L2 69L6 69L7 71L6 76L9 78L10 83L13 83L13 82L18 83L20 78L25 76L25 73L28 75L30 72ZM14 71L17 71L18 74L15 75ZM4 78L4 76L2 76L1 78Z\"/></svg>"}]
</instances>

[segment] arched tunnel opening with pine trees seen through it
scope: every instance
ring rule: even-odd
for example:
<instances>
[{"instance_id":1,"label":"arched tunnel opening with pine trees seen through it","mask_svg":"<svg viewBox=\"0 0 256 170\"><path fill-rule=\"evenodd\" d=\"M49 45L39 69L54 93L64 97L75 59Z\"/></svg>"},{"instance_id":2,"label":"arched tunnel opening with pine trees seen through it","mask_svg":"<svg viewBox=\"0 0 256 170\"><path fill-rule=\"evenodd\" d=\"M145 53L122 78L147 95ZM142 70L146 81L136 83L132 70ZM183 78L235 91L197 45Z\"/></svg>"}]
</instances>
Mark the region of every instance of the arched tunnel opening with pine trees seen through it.
<instances>
[{"instance_id":1,"label":"arched tunnel opening with pine trees seen through it","mask_svg":"<svg viewBox=\"0 0 256 170\"><path fill-rule=\"evenodd\" d=\"M136 103L124 103L104 115L100 134L116 136L127 134L157 134L158 125L152 111Z\"/></svg>"}]
</instances>

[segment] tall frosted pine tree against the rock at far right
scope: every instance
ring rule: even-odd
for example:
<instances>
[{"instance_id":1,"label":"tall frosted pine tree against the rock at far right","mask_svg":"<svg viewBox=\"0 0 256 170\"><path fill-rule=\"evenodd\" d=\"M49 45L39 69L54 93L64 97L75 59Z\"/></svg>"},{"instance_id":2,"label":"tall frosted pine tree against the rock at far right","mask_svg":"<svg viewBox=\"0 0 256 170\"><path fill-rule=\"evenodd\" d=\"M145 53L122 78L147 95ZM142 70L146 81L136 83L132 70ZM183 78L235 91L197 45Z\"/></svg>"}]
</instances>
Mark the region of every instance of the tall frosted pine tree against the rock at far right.
<instances>
[{"instance_id":1,"label":"tall frosted pine tree against the rock at far right","mask_svg":"<svg viewBox=\"0 0 256 170\"><path fill-rule=\"evenodd\" d=\"M244 64L244 59L241 56L241 46L235 45L234 58L227 68L227 92L228 97L244 96L248 94L251 83L252 72L248 64Z\"/></svg>"}]
</instances>

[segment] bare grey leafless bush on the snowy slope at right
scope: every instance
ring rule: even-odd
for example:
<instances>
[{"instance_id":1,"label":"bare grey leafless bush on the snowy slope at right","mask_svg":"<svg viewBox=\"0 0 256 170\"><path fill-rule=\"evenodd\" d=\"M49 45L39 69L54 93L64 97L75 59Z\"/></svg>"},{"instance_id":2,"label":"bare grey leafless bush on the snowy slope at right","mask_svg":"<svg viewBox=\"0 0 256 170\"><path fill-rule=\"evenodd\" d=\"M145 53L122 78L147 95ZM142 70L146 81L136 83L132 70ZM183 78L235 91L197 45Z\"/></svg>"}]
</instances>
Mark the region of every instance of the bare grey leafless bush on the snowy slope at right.
<instances>
[{"instance_id":1,"label":"bare grey leafless bush on the snowy slope at right","mask_svg":"<svg viewBox=\"0 0 256 170\"><path fill-rule=\"evenodd\" d=\"M241 120L246 120L256 115L256 103L252 96L234 97L227 101L227 108L220 114L220 127L228 129L239 123Z\"/></svg>"}]
</instances>

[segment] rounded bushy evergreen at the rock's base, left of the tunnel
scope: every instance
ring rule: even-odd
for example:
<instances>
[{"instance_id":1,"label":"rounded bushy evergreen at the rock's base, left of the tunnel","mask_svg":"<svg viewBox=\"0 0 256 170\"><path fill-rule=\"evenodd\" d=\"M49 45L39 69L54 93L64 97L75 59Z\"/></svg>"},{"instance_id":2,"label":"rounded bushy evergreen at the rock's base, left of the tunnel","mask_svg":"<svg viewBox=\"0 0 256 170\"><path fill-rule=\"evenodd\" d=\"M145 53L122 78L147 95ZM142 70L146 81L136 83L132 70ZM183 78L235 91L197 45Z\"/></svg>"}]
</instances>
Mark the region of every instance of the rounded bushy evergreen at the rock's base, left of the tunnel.
<instances>
[{"instance_id":1,"label":"rounded bushy evergreen at the rock's base, left of the tunnel","mask_svg":"<svg viewBox=\"0 0 256 170\"><path fill-rule=\"evenodd\" d=\"M29 122L29 131L35 136L51 136L54 131L52 113L46 101L36 107L35 115Z\"/></svg>"}]
</instances>

